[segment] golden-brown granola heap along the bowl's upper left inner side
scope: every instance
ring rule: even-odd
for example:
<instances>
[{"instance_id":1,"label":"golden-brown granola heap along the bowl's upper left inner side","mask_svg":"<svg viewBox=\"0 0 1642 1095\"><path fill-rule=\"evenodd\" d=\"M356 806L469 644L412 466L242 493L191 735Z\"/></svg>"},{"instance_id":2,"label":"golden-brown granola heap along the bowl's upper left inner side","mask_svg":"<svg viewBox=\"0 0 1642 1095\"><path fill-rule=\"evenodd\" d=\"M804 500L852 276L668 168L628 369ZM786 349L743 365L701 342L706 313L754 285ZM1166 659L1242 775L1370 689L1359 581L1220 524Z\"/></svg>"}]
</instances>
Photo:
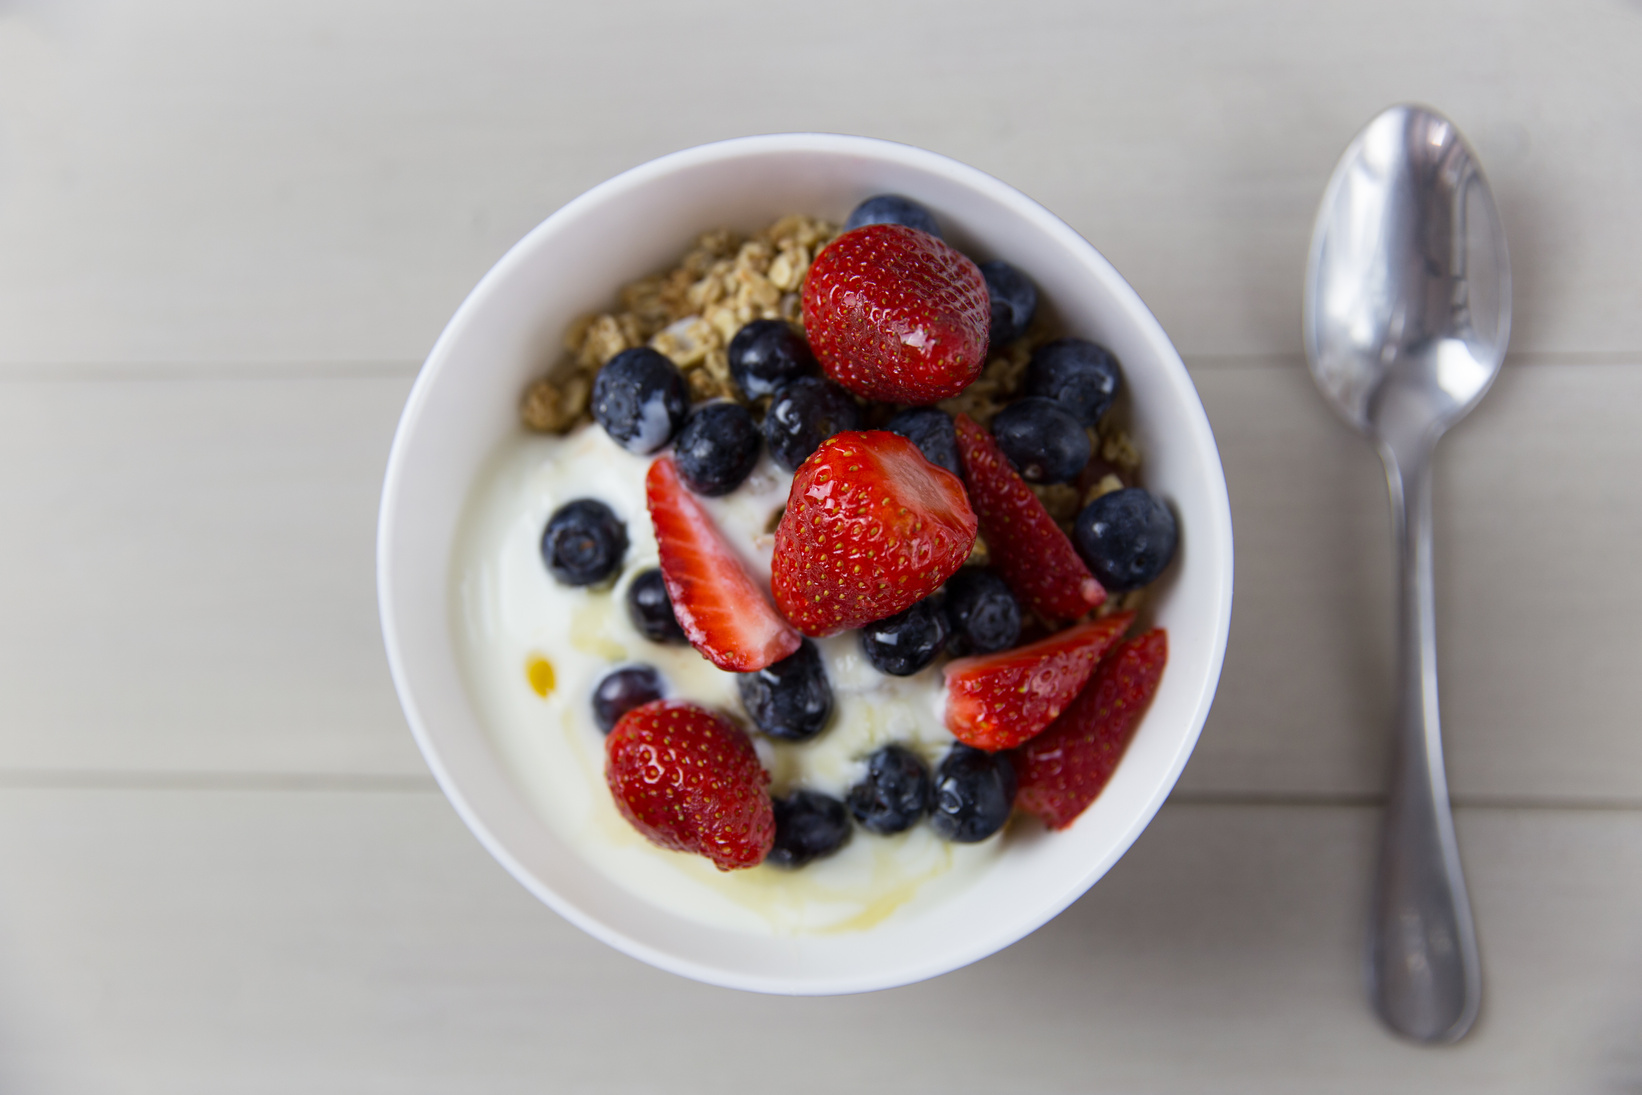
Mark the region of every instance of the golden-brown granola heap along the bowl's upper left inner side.
<instances>
[{"instance_id":1,"label":"golden-brown granola heap along the bowl's upper left inner side","mask_svg":"<svg viewBox=\"0 0 1642 1095\"><path fill-rule=\"evenodd\" d=\"M622 287L614 312L585 315L565 335L566 356L525 392L525 427L565 433L588 422L593 376L622 350L652 346L685 374L691 401L741 392L726 350L745 323L783 318L801 328L800 287L837 225L793 213L749 238L703 233L673 269Z\"/></svg>"}]
</instances>

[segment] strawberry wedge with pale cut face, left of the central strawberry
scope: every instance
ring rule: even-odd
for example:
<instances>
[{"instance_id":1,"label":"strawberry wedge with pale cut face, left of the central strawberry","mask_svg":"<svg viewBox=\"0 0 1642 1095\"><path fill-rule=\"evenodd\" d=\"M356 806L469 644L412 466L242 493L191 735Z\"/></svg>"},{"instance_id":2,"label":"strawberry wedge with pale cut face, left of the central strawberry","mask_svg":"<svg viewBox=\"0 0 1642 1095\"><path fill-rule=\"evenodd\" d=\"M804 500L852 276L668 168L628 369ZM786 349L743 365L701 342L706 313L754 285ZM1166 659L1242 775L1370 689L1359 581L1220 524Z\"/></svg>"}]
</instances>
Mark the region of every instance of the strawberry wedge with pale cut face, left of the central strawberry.
<instances>
[{"instance_id":1,"label":"strawberry wedge with pale cut face, left of the central strawberry","mask_svg":"<svg viewBox=\"0 0 1642 1095\"><path fill-rule=\"evenodd\" d=\"M798 650L801 639L764 596L713 517L678 481L672 456L644 479L662 581L690 645L721 670L752 673Z\"/></svg>"}]
</instances>

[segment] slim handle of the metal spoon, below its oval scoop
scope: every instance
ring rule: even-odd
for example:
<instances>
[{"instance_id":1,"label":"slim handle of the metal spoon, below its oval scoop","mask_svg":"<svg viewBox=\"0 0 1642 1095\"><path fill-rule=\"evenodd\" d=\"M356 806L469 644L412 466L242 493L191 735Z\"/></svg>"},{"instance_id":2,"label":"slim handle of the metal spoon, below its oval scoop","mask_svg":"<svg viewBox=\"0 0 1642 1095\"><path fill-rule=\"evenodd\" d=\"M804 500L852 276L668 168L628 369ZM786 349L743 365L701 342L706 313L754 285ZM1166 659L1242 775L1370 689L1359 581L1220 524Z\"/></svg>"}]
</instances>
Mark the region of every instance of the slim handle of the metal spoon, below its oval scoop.
<instances>
[{"instance_id":1,"label":"slim handle of the metal spoon, below its oval scoop","mask_svg":"<svg viewBox=\"0 0 1642 1095\"><path fill-rule=\"evenodd\" d=\"M1463 1038L1483 980L1460 845L1448 813L1437 717L1432 598L1435 438L1384 447L1397 532L1397 712L1391 790L1368 941L1368 987L1394 1031L1425 1042Z\"/></svg>"}]
</instances>

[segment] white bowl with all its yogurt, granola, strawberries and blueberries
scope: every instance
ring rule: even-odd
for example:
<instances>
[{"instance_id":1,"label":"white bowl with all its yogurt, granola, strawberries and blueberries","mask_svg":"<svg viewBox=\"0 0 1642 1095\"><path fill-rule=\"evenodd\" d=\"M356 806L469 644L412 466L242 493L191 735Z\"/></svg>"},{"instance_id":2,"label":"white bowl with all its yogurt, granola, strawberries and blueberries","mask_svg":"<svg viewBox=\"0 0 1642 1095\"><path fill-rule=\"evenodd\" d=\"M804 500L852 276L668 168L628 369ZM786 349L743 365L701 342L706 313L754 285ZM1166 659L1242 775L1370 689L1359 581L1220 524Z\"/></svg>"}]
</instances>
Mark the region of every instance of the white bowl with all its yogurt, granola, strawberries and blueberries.
<instances>
[{"instance_id":1,"label":"white bowl with all its yogurt, granola, strawberries and blueberries","mask_svg":"<svg viewBox=\"0 0 1642 1095\"><path fill-rule=\"evenodd\" d=\"M604 942L903 985L1064 909L1209 714L1232 520L1163 328L934 153L675 153L521 240L406 404L383 634L440 788Z\"/></svg>"}]
</instances>

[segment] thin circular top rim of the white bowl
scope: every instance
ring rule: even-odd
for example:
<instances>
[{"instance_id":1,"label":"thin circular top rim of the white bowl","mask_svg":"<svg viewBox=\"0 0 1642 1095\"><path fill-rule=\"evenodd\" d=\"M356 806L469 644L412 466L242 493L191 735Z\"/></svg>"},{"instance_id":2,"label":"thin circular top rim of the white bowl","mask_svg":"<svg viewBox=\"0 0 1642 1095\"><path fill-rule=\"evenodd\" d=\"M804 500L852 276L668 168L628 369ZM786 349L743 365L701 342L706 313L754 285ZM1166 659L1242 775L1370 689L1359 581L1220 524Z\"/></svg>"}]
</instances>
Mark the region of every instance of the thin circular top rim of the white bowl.
<instances>
[{"instance_id":1,"label":"thin circular top rim of the white bowl","mask_svg":"<svg viewBox=\"0 0 1642 1095\"><path fill-rule=\"evenodd\" d=\"M980 194L990 202L1008 207L1015 215L1033 222L1034 227L1051 236L1057 246L1077 254L1079 259L1090 268L1090 271L1103 282L1102 287L1113 296L1113 299L1121 305L1121 310L1135 322L1153 353L1176 374L1176 383L1184 383L1186 389L1190 392L1190 399L1184 401L1186 417L1190 420L1192 430L1199 433L1199 443L1202 443L1204 450L1212 456L1210 466L1207 468L1212 473L1212 481L1207 484L1209 489L1205 493L1210 509L1210 527L1194 529L1194 542L1204 542L1209 547L1209 553L1218 557L1223 580L1215 588L1212 612L1205 614L1207 619L1213 621L1213 640L1209 653L1207 673L1204 673L1199 681L1190 726L1179 739L1179 745L1164 777L1158 781L1151 796L1146 799L1146 804L1130 818L1126 827L1117 836L1110 852L1098 857L1077 877L1069 878L1054 900L1033 905L1021 916L1003 918L993 931L979 934L967 944L959 942L926 957L921 962L897 965L893 970L885 970L885 975L877 977L814 975L795 982L793 977L785 974L762 975L726 970L637 939L583 909L576 901L537 878L537 875L527 868L491 831L458 781L450 775L450 770L440 755L438 744L430 734L422 716L420 704L415 698L415 683L406 670L401 622L394 601L394 522L397 507L402 504L404 465L407 460L406 450L412 445L410 438L417 432L420 419L424 417L429 392L435 384L437 374L448 366L448 361L452 360L452 346L468 327L473 314L481 309L481 300L488 297L498 284L512 277L514 271L522 266L527 261L527 256L535 250L537 240L553 235L560 225L573 222L591 207L604 204L629 190L644 187L681 169L711 164L722 159L778 153L859 156L878 163L926 171L944 176L949 181ZM392 445L389 448L376 527L378 614L394 691L404 711L406 722L410 727L410 734L417 749L422 752L433 780L468 831L473 832L479 844L507 870L507 873L525 887L525 890L529 890L537 900L594 939L599 939L601 942L657 969L678 974L681 977L724 988L778 995L842 995L874 992L915 983L962 969L1026 937L1043 924L1059 916L1069 905L1072 905L1072 901L1098 882L1112 868L1112 865L1128 852L1128 849L1140 837L1141 831L1151 824L1158 809L1161 809L1163 803L1174 790L1174 785L1179 781L1181 772L1190 758L1190 754L1202 734L1202 727L1209 717L1209 709L1213 704L1225 663L1225 648L1232 621L1233 563L1232 511L1225 483L1225 468L1220 460L1220 451L1215 443L1207 412L1202 407L1202 399L1197 396L1186 364L1181 360L1179 351L1174 348L1174 343L1164 333L1163 325L1156 320L1135 289L1121 277L1121 274L1118 274L1117 268L1113 268L1092 243L1089 243L1071 225L1056 217L1039 202L977 167L956 161L949 156L943 156L941 153L933 153L911 144L869 136L814 131L727 138L706 144L696 144L645 161L611 176L604 182L599 182L576 195L537 223L517 243L507 248L507 251L479 277L466 297L463 297L433 346L429 350L422 368L417 371L415 383L406 399L406 405L401 412Z\"/></svg>"}]
</instances>

